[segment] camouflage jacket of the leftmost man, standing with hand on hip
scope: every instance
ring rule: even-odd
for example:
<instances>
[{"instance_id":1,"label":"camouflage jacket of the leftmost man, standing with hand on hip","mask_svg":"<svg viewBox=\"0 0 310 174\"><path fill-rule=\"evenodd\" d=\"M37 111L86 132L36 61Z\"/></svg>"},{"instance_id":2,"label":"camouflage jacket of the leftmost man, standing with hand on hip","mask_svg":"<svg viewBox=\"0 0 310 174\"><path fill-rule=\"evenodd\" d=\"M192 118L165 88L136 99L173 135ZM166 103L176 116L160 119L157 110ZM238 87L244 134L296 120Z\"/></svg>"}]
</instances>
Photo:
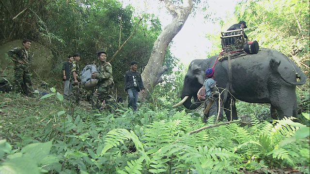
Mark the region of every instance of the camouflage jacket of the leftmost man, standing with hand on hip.
<instances>
[{"instance_id":1,"label":"camouflage jacket of the leftmost man, standing with hand on hip","mask_svg":"<svg viewBox=\"0 0 310 174\"><path fill-rule=\"evenodd\" d=\"M29 51L26 51L23 47L21 48L13 48L11 50L8 51L8 55L12 58L13 62L15 62L15 64L19 64L17 63L18 60L24 61L25 64L27 65L28 68L30 68L31 65L31 54Z\"/></svg>"}]
</instances>

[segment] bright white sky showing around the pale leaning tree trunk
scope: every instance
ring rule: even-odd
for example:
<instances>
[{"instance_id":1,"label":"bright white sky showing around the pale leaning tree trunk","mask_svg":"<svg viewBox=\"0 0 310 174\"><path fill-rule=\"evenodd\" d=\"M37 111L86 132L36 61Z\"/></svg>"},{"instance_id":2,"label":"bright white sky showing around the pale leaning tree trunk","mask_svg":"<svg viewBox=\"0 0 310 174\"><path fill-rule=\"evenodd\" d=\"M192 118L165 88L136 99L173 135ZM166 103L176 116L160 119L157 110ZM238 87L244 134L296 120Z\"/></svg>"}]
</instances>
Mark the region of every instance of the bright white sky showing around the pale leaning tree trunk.
<instances>
[{"instance_id":1,"label":"bright white sky showing around the pale leaning tree trunk","mask_svg":"<svg viewBox=\"0 0 310 174\"><path fill-rule=\"evenodd\" d=\"M137 14L144 12L155 14L159 17L162 28L171 22L172 16L168 14L164 3L159 0L122 0L123 4L130 3L136 10ZM202 0L203 1L203 0ZM207 22L203 19L202 13L197 13L195 16L190 15L184 27L173 38L171 45L171 53L179 58L185 65L196 58L207 58L207 53L210 51L212 43L205 38L207 33L214 33L218 35L218 42L220 43L220 31L228 29L231 25L236 23L233 16L234 6L239 0L207 0L209 9L216 17L222 17L232 21L231 24L224 26L223 29L217 24ZM229 17L227 17L229 16Z\"/></svg>"}]
</instances>

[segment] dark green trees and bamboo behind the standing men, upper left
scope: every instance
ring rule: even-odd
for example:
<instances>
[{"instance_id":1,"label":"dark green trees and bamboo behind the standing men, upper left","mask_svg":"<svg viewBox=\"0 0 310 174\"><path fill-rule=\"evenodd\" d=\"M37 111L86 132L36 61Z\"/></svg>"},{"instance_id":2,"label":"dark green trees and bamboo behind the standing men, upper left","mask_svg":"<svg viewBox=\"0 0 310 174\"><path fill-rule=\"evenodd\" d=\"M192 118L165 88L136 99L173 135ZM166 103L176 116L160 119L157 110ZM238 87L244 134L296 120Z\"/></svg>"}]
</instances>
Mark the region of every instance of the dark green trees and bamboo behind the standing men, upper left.
<instances>
[{"instance_id":1,"label":"dark green trees and bamboo behind the standing men, upper left","mask_svg":"<svg viewBox=\"0 0 310 174\"><path fill-rule=\"evenodd\" d=\"M124 7L119 0L39 0L31 3L13 0L1 5L0 12L5 19L0 21L4 28L0 42L29 38L47 46L54 56L49 73L55 77L61 74L62 63L69 54L80 53L82 69L87 64L97 63L96 53L100 50L106 51L111 60L129 39L110 62L115 88L119 91L117 95L123 98L126 96L124 73L129 70L129 63L138 61L141 72L161 32L158 17L154 14L135 16L133 7ZM164 64L170 70L175 59L167 49Z\"/></svg>"}]
</instances>

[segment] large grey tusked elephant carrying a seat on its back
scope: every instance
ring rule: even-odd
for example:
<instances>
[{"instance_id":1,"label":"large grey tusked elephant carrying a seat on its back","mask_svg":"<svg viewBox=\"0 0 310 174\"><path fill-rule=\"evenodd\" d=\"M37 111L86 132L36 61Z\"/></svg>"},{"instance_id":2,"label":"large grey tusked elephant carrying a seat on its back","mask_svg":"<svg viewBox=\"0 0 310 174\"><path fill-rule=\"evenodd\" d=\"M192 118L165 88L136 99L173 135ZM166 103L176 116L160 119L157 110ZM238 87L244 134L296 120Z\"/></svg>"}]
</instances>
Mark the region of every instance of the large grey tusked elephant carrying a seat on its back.
<instances>
[{"instance_id":1,"label":"large grey tusked elephant carrying a seat on its back","mask_svg":"<svg viewBox=\"0 0 310 174\"><path fill-rule=\"evenodd\" d=\"M295 88L296 85L305 84L307 77L284 54L277 50L261 48L257 54L233 58L230 62L222 60L215 64L217 58L218 56L213 56L191 61L184 78L181 102L173 107L183 104L187 109L198 108L202 102L199 102L197 92L206 78L205 70L214 66L214 80L218 89L220 92L227 89L221 95L221 99L228 121L238 119L235 99L250 103L270 103L273 119L277 119L277 113L279 119L297 115Z\"/></svg>"}]
</instances>

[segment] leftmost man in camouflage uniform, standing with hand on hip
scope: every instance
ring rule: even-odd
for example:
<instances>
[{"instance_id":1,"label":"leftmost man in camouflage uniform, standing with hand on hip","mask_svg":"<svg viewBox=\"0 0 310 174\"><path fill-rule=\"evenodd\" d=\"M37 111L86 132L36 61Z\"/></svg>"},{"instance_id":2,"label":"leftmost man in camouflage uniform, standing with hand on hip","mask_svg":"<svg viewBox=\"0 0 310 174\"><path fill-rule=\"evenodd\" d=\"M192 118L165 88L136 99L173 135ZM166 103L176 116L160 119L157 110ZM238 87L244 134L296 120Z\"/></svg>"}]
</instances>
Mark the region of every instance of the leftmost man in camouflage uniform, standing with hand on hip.
<instances>
[{"instance_id":1,"label":"leftmost man in camouflage uniform, standing with hand on hip","mask_svg":"<svg viewBox=\"0 0 310 174\"><path fill-rule=\"evenodd\" d=\"M8 55L14 62L14 87L15 92L21 92L27 96L33 96L33 87L31 82L31 55L29 48L31 46L31 40L25 39L23 41L23 47L13 48L8 51Z\"/></svg>"}]
</instances>

